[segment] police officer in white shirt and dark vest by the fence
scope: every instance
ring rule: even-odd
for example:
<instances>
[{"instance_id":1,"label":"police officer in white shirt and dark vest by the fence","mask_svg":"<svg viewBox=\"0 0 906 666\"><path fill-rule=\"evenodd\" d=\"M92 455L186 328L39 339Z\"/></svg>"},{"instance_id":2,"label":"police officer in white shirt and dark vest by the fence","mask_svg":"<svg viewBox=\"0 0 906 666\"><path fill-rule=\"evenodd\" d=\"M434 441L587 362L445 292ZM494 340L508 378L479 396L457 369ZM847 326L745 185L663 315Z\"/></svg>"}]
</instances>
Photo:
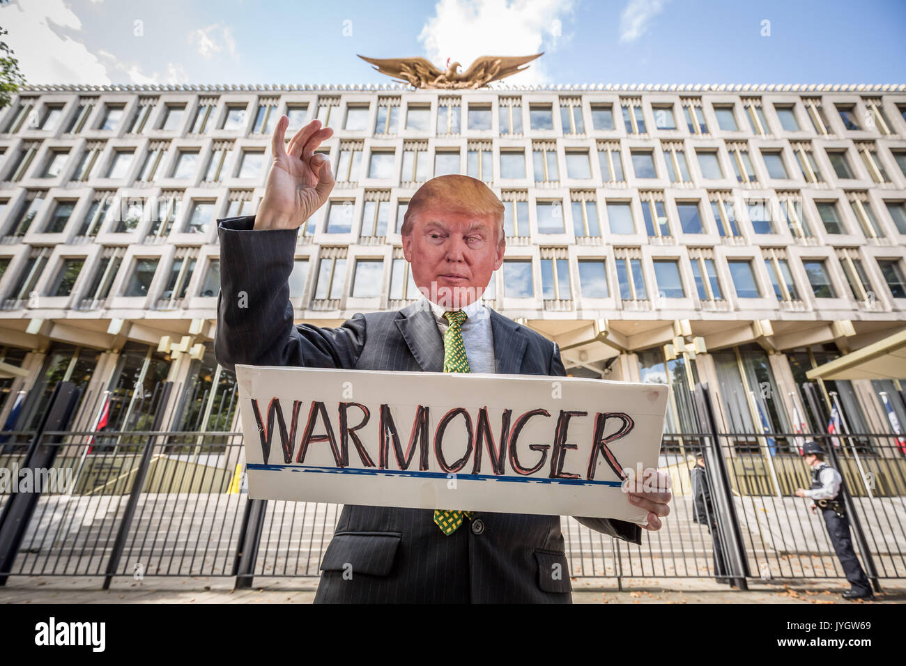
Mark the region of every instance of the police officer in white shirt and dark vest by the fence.
<instances>
[{"instance_id":1,"label":"police officer in white shirt and dark vest by the fence","mask_svg":"<svg viewBox=\"0 0 906 666\"><path fill-rule=\"evenodd\" d=\"M843 478L840 472L824 462L824 450L815 441L806 441L802 447L805 464L812 469L812 487L808 490L797 488L796 497L808 497L814 500L812 513L815 506L824 514L824 525L827 534L831 537L834 550L850 589L843 593L844 599L873 599L872 585L868 582L859 558L853 551L853 540L850 537L849 518L846 517L846 507L840 495L840 486Z\"/></svg>"}]
</instances>

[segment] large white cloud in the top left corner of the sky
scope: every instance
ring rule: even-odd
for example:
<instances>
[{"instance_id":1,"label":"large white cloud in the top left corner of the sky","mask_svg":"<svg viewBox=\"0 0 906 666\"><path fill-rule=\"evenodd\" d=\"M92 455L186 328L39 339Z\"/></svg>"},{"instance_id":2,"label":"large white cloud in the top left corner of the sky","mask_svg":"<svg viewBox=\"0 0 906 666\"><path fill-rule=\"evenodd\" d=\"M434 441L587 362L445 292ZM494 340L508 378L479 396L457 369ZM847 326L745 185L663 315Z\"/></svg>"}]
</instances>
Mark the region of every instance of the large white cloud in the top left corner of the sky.
<instances>
[{"instance_id":1,"label":"large white cloud in the top left corner of the sky","mask_svg":"<svg viewBox=\"0 0 906 666\"><path fill-rule=\"evenodd\" d=\"M61 34L81 31L82 22L63 0L29 0L0 8L6 43L29 83L111 83L107 68L85 45ZM53 24L53 25L52 25Z\"/></svg>"}]
</instances>

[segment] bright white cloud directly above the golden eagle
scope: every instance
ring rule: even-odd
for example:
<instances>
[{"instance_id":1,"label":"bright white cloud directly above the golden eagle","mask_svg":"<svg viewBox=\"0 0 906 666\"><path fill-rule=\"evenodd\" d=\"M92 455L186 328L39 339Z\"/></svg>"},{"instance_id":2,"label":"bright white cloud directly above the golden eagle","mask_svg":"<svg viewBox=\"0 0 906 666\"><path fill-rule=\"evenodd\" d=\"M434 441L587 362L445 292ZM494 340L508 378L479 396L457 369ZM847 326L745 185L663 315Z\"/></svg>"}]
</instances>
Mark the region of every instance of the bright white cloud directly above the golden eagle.
<instances>
[{"instance_id":1,"label":"bright white cloud directly above the golden eagle","mask_svg":"<svg viewBox=\"0 0 906 666\"><path fill-rule=\"evenodd\" d=\"M564 19L573 13L573 0L439 0L435 14L422 27L419 42L436 67L458 62L465 72L482 55L550 53L569 39ZM544 57L525 72L504 81L524 85L545 83Z\"/></svg>"}]
</instances>

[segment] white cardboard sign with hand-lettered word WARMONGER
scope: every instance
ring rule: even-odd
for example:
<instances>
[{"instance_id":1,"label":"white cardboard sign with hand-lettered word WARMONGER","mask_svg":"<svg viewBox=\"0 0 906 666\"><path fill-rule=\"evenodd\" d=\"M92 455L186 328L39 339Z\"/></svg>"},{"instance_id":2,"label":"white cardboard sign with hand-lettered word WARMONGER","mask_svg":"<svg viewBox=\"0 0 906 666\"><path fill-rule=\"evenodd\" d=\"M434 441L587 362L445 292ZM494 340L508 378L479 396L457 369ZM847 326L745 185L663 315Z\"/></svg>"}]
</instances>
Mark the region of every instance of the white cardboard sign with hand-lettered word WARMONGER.
<instances>
[{"instance_id":1,"label":"white cardboard sign with hand-lettered word WARMONGER","mask_svg":"<svg viewBox=\"0 0 906 666\"><path fill-rule=\"evenodd\" d=\"M236 365L248 494L640 525L665 384Z\"/></svg>"}]
</instances>

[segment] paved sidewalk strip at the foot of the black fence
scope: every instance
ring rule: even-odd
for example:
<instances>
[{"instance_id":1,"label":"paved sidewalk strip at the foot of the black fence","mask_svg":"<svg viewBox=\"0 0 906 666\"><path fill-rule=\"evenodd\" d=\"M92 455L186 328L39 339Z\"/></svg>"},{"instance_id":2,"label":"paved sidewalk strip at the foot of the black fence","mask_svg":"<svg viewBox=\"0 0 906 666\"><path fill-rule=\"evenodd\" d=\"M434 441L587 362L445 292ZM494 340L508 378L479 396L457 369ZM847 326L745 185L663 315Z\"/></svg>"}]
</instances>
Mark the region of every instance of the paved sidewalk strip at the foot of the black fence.
<instances>
[{"instance_id":1,"label":"paved sidewalk strip at the foot of the black fence","mask_svg":"<svg viewBox=\"0 0 906 666\"><path fill-rule=\"evenodd\" d=\"M249 590L233 590L233 578L102 578L11 576L0 603L312 603L316 580L260 578ZM573 580L573 603L867 603L849 602L837 580L755 580L747 592L707 578L631 578L623 591L610 578ZM906 581L882 580L873 603L906 602Z\"/></svg>"}]
</instances>

